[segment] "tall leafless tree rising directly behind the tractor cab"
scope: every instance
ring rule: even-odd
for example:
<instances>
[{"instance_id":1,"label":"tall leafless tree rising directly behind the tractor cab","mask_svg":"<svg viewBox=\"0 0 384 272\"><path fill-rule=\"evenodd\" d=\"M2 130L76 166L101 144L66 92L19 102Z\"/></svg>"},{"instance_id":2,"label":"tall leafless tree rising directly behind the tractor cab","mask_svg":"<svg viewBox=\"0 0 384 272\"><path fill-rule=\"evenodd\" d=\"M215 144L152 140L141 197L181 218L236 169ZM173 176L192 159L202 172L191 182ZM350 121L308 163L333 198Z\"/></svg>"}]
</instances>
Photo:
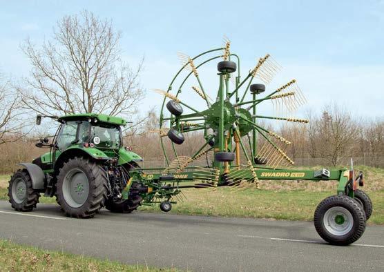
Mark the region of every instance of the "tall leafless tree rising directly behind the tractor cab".
<instances>
[{"instance_id":1,"label":"tall leafless tree rising directly behind the tractor cab","mask_svg":"<svg viewBox=\"0 0 384 272\"><path fill-rule=\"evenodd\" d=\"M27 39L22 50L32 75L19 86L24 106L48 115L137 113L142 62L135 70L124 64L119 40L111 21L87 11L59 20L41 48Z\"/></svg>"}]
</instances>

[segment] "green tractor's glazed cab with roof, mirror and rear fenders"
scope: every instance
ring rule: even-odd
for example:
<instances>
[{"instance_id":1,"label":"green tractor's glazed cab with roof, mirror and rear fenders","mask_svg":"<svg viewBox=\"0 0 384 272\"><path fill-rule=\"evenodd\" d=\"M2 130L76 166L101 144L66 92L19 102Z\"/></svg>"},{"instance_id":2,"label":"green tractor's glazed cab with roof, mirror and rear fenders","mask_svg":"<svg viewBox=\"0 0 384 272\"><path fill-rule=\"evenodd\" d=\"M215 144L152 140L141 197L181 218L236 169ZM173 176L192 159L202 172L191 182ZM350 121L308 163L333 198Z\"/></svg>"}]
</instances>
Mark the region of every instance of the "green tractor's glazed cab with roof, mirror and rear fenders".
<instances>
[{"instance_id":1,"label":"green tractor's glazed cab with roof, mirror and rear fenders","mask_svg":"<svg viewBox=\"0 0 384 272\"><path fill-rule=\"evenodd\" d=\"M123 148L121 126L126 121L120 117L86 113L51 117L60 123L57 133L49 143L48 138L41 139L37 147L50 148L50 152L33 161L46 172L55 170L55 164L61 157L85 155L95 159L118 157L120 161L131 159L140 161L142 158ZM41 115L37 116L37 124L41 123ZM65 160L65 158L64 158ZM59 166L57 166L59 167Z\"/></svg>"}]
</instances>

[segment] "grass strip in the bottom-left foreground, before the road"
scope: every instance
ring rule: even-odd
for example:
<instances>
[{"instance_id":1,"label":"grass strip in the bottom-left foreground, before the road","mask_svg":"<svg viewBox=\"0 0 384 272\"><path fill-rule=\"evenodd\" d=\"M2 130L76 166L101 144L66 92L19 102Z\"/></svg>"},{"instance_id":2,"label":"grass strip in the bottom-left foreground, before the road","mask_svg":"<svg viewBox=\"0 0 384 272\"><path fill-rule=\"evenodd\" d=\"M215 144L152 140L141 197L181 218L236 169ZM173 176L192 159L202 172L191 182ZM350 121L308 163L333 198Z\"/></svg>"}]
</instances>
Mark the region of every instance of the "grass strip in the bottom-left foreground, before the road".
<instances>
[{"instance_id":1,"label":"grass strip in the bottom-left foreground, before the road","mask_svg":"<svg viewBox=\"0 0 384 272\"><path fill-rule=\"evenodd\" d=\"M177 271L88 258L0 240L1 271Z\"/></svg>"}]
</instances>

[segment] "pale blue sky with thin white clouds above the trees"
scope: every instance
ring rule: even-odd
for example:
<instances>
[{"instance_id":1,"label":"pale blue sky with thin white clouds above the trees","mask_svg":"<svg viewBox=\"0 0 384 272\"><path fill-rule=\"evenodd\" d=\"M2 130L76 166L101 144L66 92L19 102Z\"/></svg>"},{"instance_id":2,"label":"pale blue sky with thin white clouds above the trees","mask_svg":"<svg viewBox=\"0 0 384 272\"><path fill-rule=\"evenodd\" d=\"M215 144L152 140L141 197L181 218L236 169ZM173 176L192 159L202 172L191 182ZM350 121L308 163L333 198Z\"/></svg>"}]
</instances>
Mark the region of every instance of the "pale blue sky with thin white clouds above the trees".
<instances>
[{"instance_id":1,"label":"pale blue sky with thin white clouds above the trees","mask_svg":"<svg viewBox=\"0 0 384 272\"><path fill-rule=\"evenodd\" d=\"M292 78L305 93L308 110L334 102L358 117L383 117L384 1L3 1L0 0L0 71L28 77L30 65L20 46L52 38L57 21L81 10L112 19L122 32L122 59L133 68L144 57L140 81L147 90L144 112L160 110L153 88L167 89L180 69L177 52L195 56L231 40L241 58L242 77L269 53L283 67L267 86ZM218 89L215 65L200 71L204 88ZM188 82L180 97L204 109ZM271 104L260 107L273 114Z\"/></svg>"}]
</instances>

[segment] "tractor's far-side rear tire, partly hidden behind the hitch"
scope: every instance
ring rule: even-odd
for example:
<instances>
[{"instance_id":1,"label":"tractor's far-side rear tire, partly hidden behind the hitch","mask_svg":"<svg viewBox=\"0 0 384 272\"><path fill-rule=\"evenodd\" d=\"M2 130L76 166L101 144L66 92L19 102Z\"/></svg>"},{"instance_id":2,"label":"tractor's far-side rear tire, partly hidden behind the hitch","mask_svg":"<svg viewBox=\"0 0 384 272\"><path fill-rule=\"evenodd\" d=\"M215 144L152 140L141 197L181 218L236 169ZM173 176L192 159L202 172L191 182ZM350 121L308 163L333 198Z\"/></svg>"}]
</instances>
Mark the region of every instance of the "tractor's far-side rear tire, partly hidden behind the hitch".
<instances>
[{"instance_id":1,"label":"tractor's far-side rear tire, partly hidden behind the hitch","mask_svg":"<svg viewBox=\"0 0 384 272\"><path fill-rule=\"evenodd\" d=\"M142 202L142 197L140 197L139 192L135 190L138 186L140 186L140 184L137 182L132 184L128 200L116 200L113 197L108 198L106 201L106 209L111 211L111 213L132 213L135 211Z\"/></svg>"}]
</instances>

